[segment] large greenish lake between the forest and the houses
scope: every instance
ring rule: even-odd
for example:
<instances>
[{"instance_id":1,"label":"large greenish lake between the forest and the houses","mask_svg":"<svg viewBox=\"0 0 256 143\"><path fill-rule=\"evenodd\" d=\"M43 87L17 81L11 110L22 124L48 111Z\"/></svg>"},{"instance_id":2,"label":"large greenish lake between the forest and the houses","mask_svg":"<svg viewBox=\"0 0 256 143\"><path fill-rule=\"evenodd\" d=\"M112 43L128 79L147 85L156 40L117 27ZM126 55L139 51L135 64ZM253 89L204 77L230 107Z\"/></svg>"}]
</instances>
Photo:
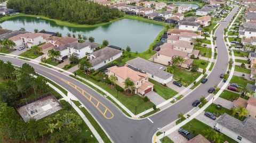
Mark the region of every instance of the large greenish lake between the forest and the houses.
<instances>
[{"instance_id":1,"label":"large greenish lake between the forest and the houses","mask_svg":"<svg viewBox=\"0 0 256 143\"><path fill-rule=\"evenodd\" d=\"M26 31L34 32L34 29L39 31L60 32L62 36L67 33L85 35L95 38L95 43L102 43L103 40L108 40L110 45L126 48L130 46L133 52L143 52L154 41L158 33L164 26L148 23L139 20L122 19L104 26L95 28L73 28L59 26L51 20L31 18L28 16L18 16L0 22L3 29L19 30L25 28Z\"/></svg>"}]
</instances>

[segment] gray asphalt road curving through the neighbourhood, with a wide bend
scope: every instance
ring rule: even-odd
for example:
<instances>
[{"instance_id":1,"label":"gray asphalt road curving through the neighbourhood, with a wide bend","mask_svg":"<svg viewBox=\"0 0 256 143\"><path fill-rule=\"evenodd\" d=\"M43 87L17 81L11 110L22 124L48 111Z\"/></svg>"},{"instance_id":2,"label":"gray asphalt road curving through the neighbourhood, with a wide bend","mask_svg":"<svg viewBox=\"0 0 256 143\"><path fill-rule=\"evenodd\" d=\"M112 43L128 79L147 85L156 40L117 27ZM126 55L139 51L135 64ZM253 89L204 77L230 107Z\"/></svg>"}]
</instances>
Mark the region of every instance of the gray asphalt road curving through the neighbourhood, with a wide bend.
<instances>
[{"instance_id":1,"label":"gray asphalt road curving through the neighbourhood, with a wide bend","mask_svg":"<svg viewBox=\"0 0 256 143\"><path fill-rule=\"evenodd\" d=\"M218 46L218 60L215 63L214 69L212 73L209 75L208 81L205 84L200 85L196 88L191 94L184 97L177 104L167 108L164 111L161 111L153 116L150 116L150 119L154 122L151 123L148 119L142 120L132 120L127 118L123 113L108 99L102 97L97 92L94 92L91 88L87 87L83 83L68 77L67 75L54 71L52 69L46 68L42 65L37 65L34 63L30 63L27 61L22 61L18 58L11 58L6 56L0 56L0 60L10 61L14 65L21 66L23 63L29 63L34 67L35 71L39 74L44 75L47 78L57 82L63 88L71 92L71 94L75 95L94 115L94 117L100 122L102 127L107 131L109 136L114 142L151 142L153 134L157 131L157 128L162 128L166 124L171 123L172 121L177 119L177 115L182 113L187 113L190 111L193 106L191 104L195 99L199 99L201 96L209 95L207 90L210 87L214 87L214 85L218 84L221 79L219 75L221 73L225 73L228 67L228 52L225 46L225 42L222 38L224 28L228 26L228 23L231 21L235 13L237 12L238 7L235 7L234 10L227 17L227 22L220 22L221 25L215 31L215 36L217 36L216 44ZM50 74L51 73L51 74ZM87 100L81 92L76 90L75 88L68 85L66 82L60 80L60 78L65 79L74 85L82 88L87 91L88 94L91 94L95 98L97 98L102 104L107 106L111 112L114 113L114 117L112 119L106 119L93 105L89 100Z\"/></svg>"}]
</instances>

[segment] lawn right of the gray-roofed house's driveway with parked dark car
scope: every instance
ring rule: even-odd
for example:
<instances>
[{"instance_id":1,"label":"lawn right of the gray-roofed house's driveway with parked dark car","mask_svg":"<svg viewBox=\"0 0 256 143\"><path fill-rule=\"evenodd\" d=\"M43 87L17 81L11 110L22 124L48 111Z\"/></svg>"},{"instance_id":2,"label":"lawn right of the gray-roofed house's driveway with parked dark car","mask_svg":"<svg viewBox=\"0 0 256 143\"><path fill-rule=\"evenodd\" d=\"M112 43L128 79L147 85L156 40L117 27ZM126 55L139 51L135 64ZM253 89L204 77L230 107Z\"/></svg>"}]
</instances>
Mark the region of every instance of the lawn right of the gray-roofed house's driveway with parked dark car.
<instances>
[{"instance_id":1,"label":"lawn right of the gray-roofed house's driveway with parked dark car","mask_svg":"<svg viewBox=\"0 0 256 143\"><path fill-rule=\"evenodd\" d=\"M175 80L181 79L182 85L187 87L191 83L193 83L200 75L201 75L201 72L198 72L198 71L191 72L182 68L175 68L173 78Z\"/></svg>"}]
</instances>

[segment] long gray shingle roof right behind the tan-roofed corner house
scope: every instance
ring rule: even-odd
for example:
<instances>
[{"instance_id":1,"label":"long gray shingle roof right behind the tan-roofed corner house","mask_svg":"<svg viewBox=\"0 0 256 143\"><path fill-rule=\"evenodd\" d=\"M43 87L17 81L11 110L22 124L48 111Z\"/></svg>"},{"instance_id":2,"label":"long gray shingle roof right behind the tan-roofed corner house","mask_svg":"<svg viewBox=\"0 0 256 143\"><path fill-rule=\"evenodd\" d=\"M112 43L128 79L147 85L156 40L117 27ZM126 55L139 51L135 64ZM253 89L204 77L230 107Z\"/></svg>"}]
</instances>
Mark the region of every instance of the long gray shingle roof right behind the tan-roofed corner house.
<instances>
[{"instance_id":1,"label":"long gray shingle roof right behind the tan-roofed corner house","mask_svg":"<svg viewBox=\"0 0 256 143\"><path fill-rule=\"evenodd\" d=\"M145 71L150 74L153 74L156 77L164 79L164 80L169 79L170 77L173 76L173 74L164 71L166 69L165 66L147 61L140 57L137 57L137 58L134 58L133 60L127 61L126 63L128 65L133 66L134 68L137 68L139 70Z\"/></svg>"}]
</instances>

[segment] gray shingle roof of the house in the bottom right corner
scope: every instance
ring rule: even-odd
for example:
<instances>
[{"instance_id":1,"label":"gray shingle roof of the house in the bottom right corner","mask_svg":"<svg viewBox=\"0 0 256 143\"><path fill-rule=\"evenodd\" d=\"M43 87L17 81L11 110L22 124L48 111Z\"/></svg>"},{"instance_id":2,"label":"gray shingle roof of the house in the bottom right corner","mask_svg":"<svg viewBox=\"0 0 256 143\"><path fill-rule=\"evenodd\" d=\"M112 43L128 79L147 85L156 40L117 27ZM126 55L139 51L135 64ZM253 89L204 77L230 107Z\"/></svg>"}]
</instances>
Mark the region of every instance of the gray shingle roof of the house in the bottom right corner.
<instances>
[{"instance_id":1,"label":"gray shingle roof of the house in the bottom right corner","mask_svg":"<svg viewBox=\"0 0 256 143\"><path fill-rule=\"evenodd\" d=\"M255 142L256 120L252 119L252 117L249 116L249 117L246 117L244 121L240 121L235 117L225 113L217 120L217 123L239 134L239 136L242 136L247 140Z\"/></svg>"}]
</instances>

